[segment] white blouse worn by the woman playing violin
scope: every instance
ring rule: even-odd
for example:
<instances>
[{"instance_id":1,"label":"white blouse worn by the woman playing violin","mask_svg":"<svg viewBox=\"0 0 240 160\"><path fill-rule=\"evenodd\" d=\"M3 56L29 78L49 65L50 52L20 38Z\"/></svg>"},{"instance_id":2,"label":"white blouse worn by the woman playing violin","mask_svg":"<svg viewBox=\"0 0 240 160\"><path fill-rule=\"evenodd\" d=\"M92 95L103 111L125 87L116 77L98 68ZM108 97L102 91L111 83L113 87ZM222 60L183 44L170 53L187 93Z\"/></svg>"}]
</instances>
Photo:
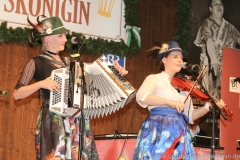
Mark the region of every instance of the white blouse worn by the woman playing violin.
<instances>
[{"instance_id":1,"label":"white blouse worn by the woman playing violin","mask_svg":"<svg viewBox=\"0 0 240 160\"><path fill-rule=\"evenodd\" d=\"M188 92L180 91L179 93L169 81L169 75L162 71L161 73L147 76L136 94L136 100L138 104L143 108L148 107L148 109L151 110L152 108L158 106L149 106L139 102L139 100L144 101L149 94L153 94L168 100L184 102ZM189 123L191 124L193 124L193 110L193 103L189 96L184 105L184 114L189 118Z\"/></svg>"}]
</instances>

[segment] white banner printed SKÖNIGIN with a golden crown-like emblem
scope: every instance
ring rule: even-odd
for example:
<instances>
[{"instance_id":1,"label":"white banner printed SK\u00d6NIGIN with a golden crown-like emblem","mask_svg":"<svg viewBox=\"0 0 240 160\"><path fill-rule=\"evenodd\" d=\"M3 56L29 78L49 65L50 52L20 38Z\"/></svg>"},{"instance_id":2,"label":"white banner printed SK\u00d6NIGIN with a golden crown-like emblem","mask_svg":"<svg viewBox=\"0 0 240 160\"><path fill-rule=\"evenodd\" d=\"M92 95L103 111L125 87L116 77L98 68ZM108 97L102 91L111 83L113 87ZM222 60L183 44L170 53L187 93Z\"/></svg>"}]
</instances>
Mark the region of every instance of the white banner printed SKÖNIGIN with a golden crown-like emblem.
<instances>
[{"instance_id":1,"label":"white banner printed SK\u00d6NIGIN with a golden crown-like emblem","mask_svg":"<svg viewBox=\"0 0 240 160\"><path fill-rule=\"evenodd\" d=\"M27 16L58 16L66 28L87 37L113 41L124 38L123 0L1 0L0 21L12 27L27 27Z\"/></svg>"}]
</instances>

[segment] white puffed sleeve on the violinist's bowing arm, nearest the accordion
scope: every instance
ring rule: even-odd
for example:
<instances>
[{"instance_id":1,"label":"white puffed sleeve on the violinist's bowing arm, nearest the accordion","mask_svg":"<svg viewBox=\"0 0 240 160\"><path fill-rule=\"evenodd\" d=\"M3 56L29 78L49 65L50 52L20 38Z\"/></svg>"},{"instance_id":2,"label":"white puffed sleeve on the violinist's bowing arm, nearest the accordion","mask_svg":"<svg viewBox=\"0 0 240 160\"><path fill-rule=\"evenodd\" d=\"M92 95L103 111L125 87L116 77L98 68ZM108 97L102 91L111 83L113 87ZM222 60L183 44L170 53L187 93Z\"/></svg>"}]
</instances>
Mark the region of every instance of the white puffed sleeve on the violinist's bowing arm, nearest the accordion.
<instances>
[{"instance_id":1,"label":"white puffed sleeve on the violinist's bowing arm, nearest the accordion","mask_svg":"<svg viewBox=\"0 0 240 160\"><path fill-rule=\"evenodd\" d=\"M141 87L137 91L136 100L140 106L146 108L148 105L139 102L139 100L144 101L146 97L153 93L157 84L157 78L153 75L149 75L142 83Z\"/></svg>"}]
</instances>

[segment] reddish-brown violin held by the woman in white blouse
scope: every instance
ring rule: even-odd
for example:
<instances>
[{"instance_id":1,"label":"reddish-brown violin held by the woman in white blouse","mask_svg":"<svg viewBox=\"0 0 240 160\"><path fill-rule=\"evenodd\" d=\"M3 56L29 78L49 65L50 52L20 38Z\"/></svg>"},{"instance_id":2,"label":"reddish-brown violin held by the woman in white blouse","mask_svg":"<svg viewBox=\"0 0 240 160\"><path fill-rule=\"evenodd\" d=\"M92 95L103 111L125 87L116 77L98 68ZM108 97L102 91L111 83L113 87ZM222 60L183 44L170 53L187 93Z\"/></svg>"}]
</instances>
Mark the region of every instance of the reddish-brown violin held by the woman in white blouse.
<instances>
[{"instance_id":1,"label":"reddish-brown violin held by the woman in white blouse","mask_svg":"<svg viewBox=\"0 0 240 160\"><path fill-rule=\"evenodd\" d=\"M171 83L176 89L187 91L187 92L191 91L190 94L200 101L206 102L206 101L209 101L210 98L212 98L214 101L218 101L215 97L211 95L210 95L211 97L209 97L197 87L195 86L193 87L193 82L189 79L186 79L177 75L177 77L173 77ZM231 112L227 108L227 106L222 107L221 111L227 117L232 117L233 115L233 112Z\"/></svg>"}]
</instances>

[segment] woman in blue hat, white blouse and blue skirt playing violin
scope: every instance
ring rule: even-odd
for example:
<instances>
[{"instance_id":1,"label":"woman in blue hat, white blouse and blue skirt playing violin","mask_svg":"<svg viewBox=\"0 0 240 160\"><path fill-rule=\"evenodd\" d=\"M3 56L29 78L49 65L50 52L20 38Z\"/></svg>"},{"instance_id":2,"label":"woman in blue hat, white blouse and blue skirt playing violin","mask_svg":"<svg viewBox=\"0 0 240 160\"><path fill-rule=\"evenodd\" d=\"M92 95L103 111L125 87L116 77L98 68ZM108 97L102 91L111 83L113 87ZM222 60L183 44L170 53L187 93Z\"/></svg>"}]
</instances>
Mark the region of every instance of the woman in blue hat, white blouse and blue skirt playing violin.
<instances>
[{"instance_id":1,"label":"woman in blue hat, white blouse and blue skirt playing violin","mask_svg":"<svg viewBox=\"0 0 240 160\"><path fill-rule=\"evenodd\" d=\"M137 92L140 106L150 110L138 133L133 159L196 159L187 123L202 117L209 111L211 104L194 109L188 92L177 91L171 81L181 70L182 51L175 41L163 44L157 60L160 73L149 75ZM185 103L184 103L185 101ZM219 108L225 104L216 102Z\"/></svg>"}]
</instances>

